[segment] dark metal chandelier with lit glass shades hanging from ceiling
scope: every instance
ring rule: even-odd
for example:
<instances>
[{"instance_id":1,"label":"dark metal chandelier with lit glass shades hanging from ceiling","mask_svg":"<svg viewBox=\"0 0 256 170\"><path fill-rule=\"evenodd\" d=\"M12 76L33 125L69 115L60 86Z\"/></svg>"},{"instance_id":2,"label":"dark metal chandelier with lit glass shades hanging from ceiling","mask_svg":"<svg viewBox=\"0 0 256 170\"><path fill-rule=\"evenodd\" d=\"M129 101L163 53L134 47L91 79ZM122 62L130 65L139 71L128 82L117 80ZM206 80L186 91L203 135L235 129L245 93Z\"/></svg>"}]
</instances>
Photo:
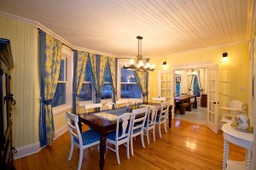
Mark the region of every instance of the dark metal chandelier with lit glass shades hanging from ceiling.
<instances>
[{"instance_id":1,"label":"dark metal chandelier with lit glass shades hanging from ceiling","mask_svg":"<svg viewBox=\"0 0 256 170\"><path fill-rule=\"evenodd\" d=\"M132 71L154 71L154 65L150 65L149 62L144 64L142 55L142 39L143 37L137 36L137 63L134 59L130 59L129 65L124 65L124 69Z\"/></svg>"}]
</instances>

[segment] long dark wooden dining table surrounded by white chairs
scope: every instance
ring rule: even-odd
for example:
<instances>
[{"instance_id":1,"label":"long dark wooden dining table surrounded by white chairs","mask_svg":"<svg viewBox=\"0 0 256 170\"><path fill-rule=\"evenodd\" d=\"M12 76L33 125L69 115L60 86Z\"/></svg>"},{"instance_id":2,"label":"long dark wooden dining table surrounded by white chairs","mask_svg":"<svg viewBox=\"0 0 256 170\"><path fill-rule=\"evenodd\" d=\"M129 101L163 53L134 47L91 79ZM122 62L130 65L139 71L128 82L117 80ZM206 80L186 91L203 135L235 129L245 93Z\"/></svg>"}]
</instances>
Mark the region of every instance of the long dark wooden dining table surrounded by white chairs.
<instances>
[{"instance_id":1,"label":"long dark wooden dining table surrounded by white chairs","mask_svg":"<svg viewBox=\"0 0 256 170\"><path fill-rule=\"evenodd\" d=\"M145 106L156 106L159 108L160 111L160 104L155 104L155 103L143 103L143 105ZM95 116L95 113L99 113L99 112L107 112L116 116L120 116L124 113L126 113L126 108L125 107L121 107L121 108L117 108L114 110L108 110L108 111L96 111L93 113L90 113L88 115L84 114L79 114L79 129L82 132L82 123L90 126L90 128L96 130L98 133L100 133L101 138L100 138L100 162L99 162L99 166L100 169L104 169L104 164L105 164L105 154L106 154L106 139L107 139L107 134L109 132L112 132L114 130L116 130L116 121L108 121L106 119L102 119L98 116ZM171 128L172 126L172 105L169 105L169 114L168 114L168 118L169 118L169 128Z\"/></svg>"}]
</instances>

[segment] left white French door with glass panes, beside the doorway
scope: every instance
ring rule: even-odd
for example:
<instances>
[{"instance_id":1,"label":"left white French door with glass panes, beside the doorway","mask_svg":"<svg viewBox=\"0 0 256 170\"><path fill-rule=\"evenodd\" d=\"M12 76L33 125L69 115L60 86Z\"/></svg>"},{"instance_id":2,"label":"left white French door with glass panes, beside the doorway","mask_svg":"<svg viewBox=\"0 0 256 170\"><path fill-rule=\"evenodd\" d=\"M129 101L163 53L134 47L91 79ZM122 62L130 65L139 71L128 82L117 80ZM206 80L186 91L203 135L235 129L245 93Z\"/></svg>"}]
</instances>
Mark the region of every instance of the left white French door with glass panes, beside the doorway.
<instances>
[{"instance_id":1,"label":"left white French door with glass panes, beside the doorway","mask_svg":"<svg viewBox=\"0 0 256 170\"><path fill-rule=\"evenodd\" d=\"M159 92L158 97L165 97L166 101L171 102L171 71L160 71L158 75L159 79Z\"/></svg>"}]
</instances>

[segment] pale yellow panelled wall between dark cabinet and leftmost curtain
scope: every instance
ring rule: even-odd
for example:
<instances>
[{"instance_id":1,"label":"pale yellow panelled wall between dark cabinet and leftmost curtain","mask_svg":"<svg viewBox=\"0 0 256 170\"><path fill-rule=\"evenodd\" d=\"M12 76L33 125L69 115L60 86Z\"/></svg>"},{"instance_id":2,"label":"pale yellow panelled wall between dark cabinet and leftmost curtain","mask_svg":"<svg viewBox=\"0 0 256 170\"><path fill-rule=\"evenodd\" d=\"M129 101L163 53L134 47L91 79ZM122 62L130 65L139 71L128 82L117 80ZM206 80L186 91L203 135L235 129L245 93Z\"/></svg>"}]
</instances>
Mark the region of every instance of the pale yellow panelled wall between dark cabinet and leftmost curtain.
<instances>
[{"instance_id":1,"label":"pale yellow panelled wall between dark cabinet and leftmost curtain","mask_svg":"<svg viewBox=\"0 0 256 170\"><path fill-rule=\"evenodd\" d=\"M16 20L0 17L0 37L7 38L15 68L11 70L13 106L13 145L18 148L38 141L38 29Z\"/></svg>"}]
</instances>

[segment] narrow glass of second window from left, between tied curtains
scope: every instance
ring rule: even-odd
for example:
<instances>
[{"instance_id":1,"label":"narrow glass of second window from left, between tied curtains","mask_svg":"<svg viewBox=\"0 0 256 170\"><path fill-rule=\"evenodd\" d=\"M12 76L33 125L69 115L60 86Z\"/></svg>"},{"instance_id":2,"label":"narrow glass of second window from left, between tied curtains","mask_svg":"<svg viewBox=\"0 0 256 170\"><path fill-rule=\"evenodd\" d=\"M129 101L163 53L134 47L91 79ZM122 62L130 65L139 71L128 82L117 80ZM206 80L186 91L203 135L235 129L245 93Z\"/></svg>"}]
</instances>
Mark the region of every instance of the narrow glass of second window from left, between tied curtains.
<instances>
[{"instance_id":1,"label":"narrow glass of second window from left, between tied curtains","mask_svg":"<svg viewBox=\"0 0 256 170\"><path fill-rule=\"evenodd\" d=\"M84 74L84 82L81 88L79 101L92 100L92 72L89 59L87 59L86 69Z\"/></svg>"}]
</instances>

